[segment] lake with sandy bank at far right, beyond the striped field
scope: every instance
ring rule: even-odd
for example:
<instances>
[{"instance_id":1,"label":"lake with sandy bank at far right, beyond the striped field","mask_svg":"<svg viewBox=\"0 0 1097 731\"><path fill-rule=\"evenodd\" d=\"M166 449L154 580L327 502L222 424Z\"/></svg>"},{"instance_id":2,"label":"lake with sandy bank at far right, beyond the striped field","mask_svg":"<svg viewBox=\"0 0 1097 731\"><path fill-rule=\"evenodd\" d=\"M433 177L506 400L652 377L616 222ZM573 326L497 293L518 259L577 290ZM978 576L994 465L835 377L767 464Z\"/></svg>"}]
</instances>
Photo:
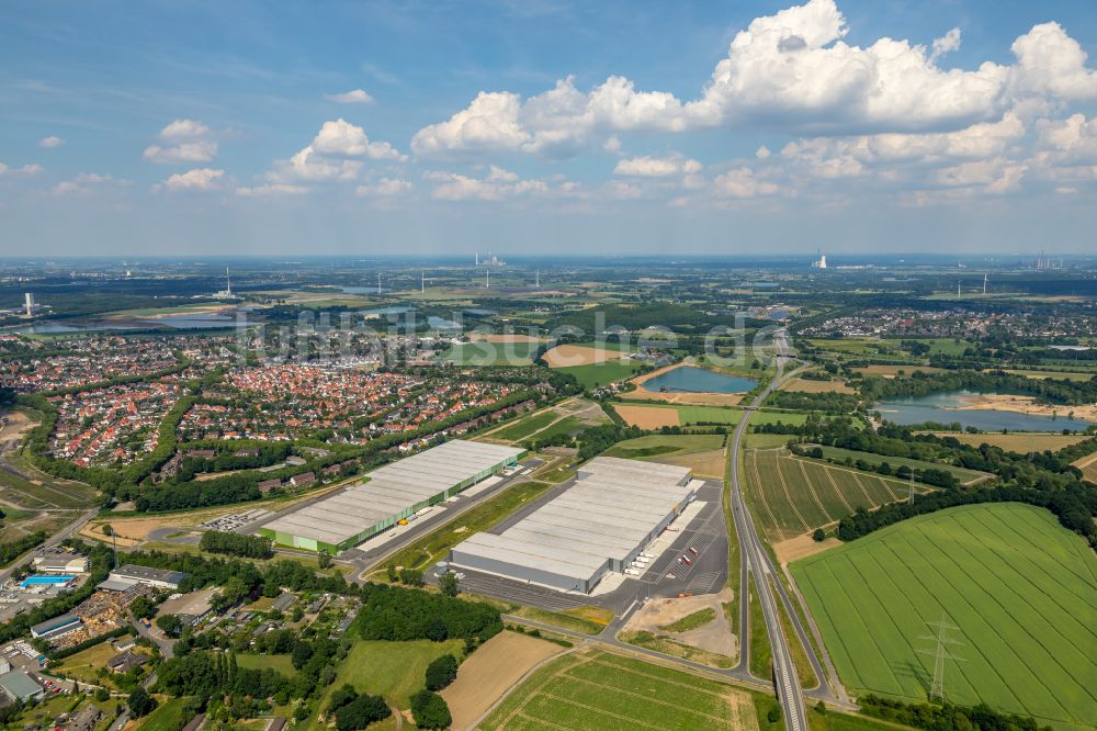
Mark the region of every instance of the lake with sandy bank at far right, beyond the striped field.
<instances>
[{"instance_id":1,"label":"lake with sandy bank at far right, beyond the striped field","mask_svg":"<svg viewBox=\"0 0 1097 731\"><path fill-rule=\"evenodd\" d=\"M975 396L971 391L952 391L934 393L928 396L909 396L893 398L872 406L880 412L881 417L895 424L923 424L938 421L940 424L959 423L962 427L975 427L984 431L1084 431L1089 428L1089 421L1066 418L1070 406L1061 408L1063 415L1058 418L1038 414L1020 414L1018 412L994 411L991 408L963 409L964 397ZM993 395L993 394L988 394Z\"/></svg>"}]
</instances>

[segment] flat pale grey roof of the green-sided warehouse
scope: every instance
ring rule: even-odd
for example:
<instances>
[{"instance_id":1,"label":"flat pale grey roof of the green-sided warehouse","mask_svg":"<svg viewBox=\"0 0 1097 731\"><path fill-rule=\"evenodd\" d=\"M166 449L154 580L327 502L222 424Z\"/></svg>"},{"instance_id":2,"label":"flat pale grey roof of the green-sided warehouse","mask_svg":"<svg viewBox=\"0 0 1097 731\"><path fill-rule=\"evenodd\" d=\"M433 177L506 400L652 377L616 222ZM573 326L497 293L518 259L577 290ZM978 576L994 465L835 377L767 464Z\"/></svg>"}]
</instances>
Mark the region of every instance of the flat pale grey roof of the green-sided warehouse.
<instances>
[{"instance_id":1,"label":"flat pale grey roof of the green-sided warehouse","mask_svg":"<svg viewBox=\"0 0 1097 731\"><path fill-rule=\"evenodd\" d=\"M263 527L338 546L522 453L512 447L454 439L369 472L367 482L351 485Z\"/></svg>"}]
</instances>

